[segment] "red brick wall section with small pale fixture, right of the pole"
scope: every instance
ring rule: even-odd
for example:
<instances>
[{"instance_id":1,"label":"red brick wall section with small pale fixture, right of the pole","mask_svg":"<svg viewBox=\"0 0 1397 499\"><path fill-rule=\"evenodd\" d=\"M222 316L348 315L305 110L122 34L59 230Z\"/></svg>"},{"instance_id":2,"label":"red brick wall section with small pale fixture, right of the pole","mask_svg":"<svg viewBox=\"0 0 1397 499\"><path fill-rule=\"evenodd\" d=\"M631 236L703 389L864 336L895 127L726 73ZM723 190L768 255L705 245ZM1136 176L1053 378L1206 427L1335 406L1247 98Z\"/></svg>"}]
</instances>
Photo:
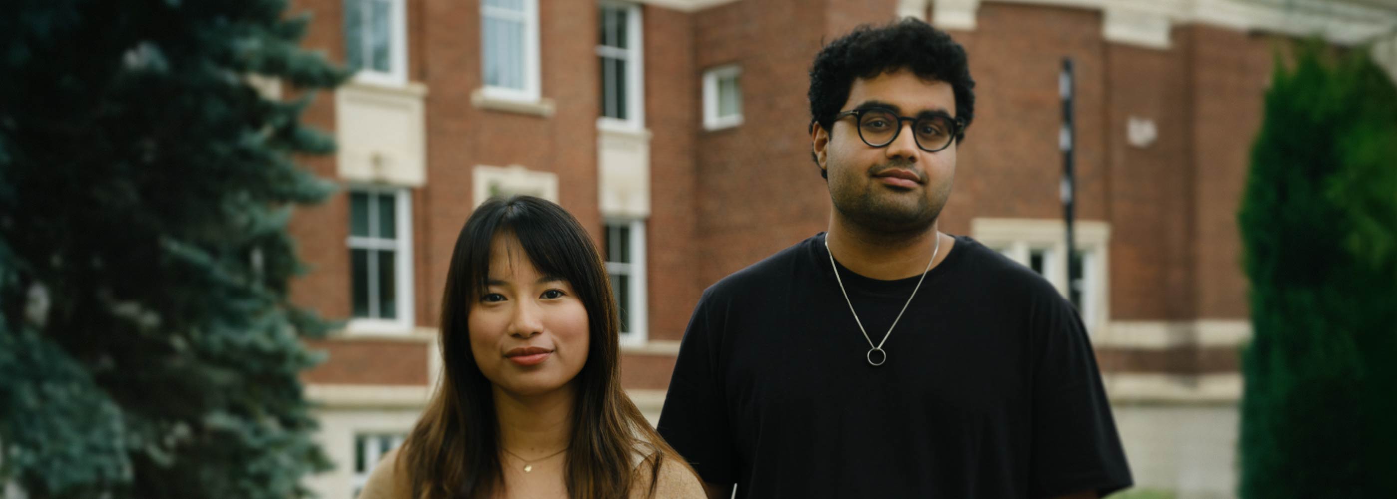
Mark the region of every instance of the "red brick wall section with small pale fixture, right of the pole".
<instances>
[{"instance_id":1,"label":"red brick wall section with small pale fixture, right of the pole","mask_svg":"<svg viewBox=\"0 0 1397 499\"><path fill-rule=\"evenodd\" d=\"M1189 272L1193 169L1185 52L1111 45L1111 315L1193 318ZM1129 117L1155 124L1154 144L1127 144Z\"/></svg>"}]
</instances>

